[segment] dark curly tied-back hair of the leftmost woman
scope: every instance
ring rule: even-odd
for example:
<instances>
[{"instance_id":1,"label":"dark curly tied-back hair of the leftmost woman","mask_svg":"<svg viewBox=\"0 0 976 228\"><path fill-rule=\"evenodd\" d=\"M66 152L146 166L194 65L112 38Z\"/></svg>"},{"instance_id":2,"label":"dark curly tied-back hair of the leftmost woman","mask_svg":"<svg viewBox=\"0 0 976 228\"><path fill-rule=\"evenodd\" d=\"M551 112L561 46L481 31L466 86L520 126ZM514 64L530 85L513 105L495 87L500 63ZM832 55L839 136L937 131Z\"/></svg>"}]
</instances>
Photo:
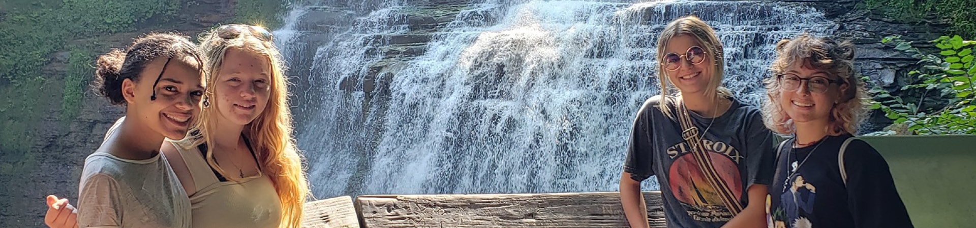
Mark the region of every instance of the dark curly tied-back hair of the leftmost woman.
<instances>
[{"instance_id":1,"label":"dark curly tied-back hair of the leftmost woman","mask_svg":"<svg viewBox=\"0 0 976 228\"><path fill-rule=\"evenodd\" d=\"M111 104L125 105L122 81L130 79L139 82L145 66L158 57L191 57L196 61L193 67L201 74L205 66L203 56L189 41L189 37L177 33L149 33L136 38L125 51L113 49L99 57L96 61L95 81L92 83L93 90Z\"/></svg>"}]
</instances>

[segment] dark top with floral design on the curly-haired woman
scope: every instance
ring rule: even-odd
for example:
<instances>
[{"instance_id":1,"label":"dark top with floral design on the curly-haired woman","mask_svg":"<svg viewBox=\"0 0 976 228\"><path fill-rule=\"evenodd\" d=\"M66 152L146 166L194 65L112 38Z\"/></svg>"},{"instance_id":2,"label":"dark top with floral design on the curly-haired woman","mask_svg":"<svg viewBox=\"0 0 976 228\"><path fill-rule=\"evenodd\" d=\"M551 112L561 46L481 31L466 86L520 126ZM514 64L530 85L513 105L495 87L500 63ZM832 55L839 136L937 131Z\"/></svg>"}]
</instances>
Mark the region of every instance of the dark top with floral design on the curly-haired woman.
<instances>
[{"instance_id":1,"label":"dark top with floral design on the curly-haired woman","mask_svg":"<svg viewBox=\"0 0 976 228\"><path fill-rule=\"evenodd\" d=\"M769 227L913 227L888 164L863 140L847 144L845 186L838 153L849 137L827 136L803 148L793 148L793 138L785 142L766 198Z\"/></svg>"}]
</instances>

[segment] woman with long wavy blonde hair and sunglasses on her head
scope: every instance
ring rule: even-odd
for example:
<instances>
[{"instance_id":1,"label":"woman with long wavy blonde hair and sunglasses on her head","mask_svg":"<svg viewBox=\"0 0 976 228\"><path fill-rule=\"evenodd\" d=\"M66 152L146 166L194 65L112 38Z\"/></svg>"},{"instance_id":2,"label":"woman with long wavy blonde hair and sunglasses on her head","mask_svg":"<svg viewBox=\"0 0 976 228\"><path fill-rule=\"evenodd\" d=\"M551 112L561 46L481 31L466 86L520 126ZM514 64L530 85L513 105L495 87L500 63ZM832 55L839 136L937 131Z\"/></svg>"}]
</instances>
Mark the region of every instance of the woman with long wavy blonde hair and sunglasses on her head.
<instances>
[{"instance_id":1,"label":"woman with long wavy blonde hair and sunglasses on her head","mask_svg":"<svg viewBox=\"0 0 976 228\"><path fill-rule=\"evenodd\" d=\"M271 33L227 24L199 48L210 59L200 121L162 148L176 155L193 227L299 227L308 185Z\"/></svg>"}]
</instances>

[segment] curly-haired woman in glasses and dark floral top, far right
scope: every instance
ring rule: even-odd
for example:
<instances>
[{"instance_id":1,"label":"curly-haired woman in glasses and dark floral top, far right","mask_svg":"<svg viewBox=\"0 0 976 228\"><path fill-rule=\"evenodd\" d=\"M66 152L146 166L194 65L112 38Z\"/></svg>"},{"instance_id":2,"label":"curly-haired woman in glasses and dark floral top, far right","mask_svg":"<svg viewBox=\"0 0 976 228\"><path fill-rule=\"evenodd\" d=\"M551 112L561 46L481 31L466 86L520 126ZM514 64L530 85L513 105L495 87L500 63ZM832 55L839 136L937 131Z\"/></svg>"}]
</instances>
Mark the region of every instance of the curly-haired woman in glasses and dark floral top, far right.
<instances>
[{"instance_id":1,"label":"curly-haired woman in glasses and dark floral top, far right","mask_svg":"<svg viewBox=\"0 0 976 228\"><path fill-rule=\"evenodd\" d=\"M851 135L868 100L854 46L803 34L776 50L765 123L793 137L777 151L769 227L912 227L887 163Z\"/></svg>"}]
</instances>

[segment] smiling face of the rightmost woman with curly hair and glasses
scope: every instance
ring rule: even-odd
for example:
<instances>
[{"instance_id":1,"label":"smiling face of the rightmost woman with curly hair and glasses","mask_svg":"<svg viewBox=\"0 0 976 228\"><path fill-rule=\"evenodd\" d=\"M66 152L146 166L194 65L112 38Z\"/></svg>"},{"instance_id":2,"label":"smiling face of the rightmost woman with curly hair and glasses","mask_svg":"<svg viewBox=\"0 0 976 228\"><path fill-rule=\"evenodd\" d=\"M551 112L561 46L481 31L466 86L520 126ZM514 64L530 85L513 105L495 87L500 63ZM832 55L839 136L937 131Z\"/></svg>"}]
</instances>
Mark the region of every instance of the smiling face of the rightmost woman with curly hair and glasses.
<instances>
[{"instance_id":1,"label":"smiling face of the rightmost woman with curly hair and glasses","mask_svg":"<svg viewBox=\"0 0 976 228\"><path fill-rule=\"evenodd\" d=\"M800 62L802 61L796 61L796 63L791 64L784 74L794 74L801 79L824 77L829 80L839 81L835 75L829 75L824 71L805 67ZM834 83L827 83L826 91L823 93L813 93L809 90L809 81L800 81L799 88L793 91L789 91L783 86L780 87L779 103L783 111L787 113L790 119L793 119L793 123L795 124L828 124L834 104L840 98L840 91L844 90L846 85L838 86ZM780 79L779 83L783 85L785 80Z\"/></svg>"}]
</instances>

